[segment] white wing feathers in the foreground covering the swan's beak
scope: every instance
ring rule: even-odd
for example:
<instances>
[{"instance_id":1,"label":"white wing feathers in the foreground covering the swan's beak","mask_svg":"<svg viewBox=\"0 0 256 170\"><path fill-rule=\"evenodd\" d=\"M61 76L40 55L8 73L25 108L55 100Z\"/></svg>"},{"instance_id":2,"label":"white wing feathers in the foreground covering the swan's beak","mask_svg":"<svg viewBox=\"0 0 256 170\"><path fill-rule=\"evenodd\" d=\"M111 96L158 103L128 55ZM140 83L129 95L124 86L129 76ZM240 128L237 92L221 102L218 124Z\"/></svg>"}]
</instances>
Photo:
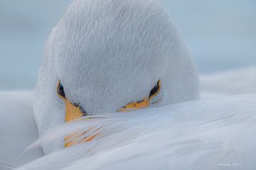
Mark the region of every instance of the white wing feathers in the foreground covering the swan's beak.
<instances>
[{"instance_id":1,"label":"white wing feathers in the foreground covering the swan's beak","mask_svg":"<svg viewBox=\"0 0 256 170\"><path fill-rule=\"evenodd\" d=\"M255 95L227 96L61 125L39 142L58 140L72 127L102 126L102 135L21 169L253 170L255 102Z\"/></svg>"}]
</instances>

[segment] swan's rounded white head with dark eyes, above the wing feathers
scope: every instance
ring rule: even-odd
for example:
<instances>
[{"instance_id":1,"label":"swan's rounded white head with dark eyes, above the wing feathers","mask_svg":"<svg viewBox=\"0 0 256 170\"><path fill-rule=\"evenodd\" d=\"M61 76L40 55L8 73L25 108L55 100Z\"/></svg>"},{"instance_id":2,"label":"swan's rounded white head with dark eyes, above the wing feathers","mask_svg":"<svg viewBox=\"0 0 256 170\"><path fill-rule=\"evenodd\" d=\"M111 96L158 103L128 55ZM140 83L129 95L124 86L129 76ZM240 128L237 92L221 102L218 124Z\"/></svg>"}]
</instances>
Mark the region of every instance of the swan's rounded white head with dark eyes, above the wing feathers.
<instances>
[{"instance_id":1,"label":"swan's rounded white head with dark eyes, above the wing feathers","mask_svg":"<svg viewBox=\"0 0 256 170\"><path fill-rule=\"evenodd\" d=\"M34 110L43 135L83 115L198 96L196 64L159 1L75 0L46 42Z\"/></svg>"}]
</instances>

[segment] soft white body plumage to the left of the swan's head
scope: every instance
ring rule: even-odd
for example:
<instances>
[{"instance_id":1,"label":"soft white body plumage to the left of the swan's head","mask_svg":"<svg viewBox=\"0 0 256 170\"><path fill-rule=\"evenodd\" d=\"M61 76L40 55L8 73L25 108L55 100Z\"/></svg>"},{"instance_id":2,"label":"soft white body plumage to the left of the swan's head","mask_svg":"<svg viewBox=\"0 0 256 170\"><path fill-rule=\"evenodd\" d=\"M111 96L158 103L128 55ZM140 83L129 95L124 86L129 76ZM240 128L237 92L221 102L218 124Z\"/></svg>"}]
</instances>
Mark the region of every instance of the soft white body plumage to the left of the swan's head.
<instances>
[{"instance_id":1,"label":"soft white body plumage to the left of the swan's head","mask_svg":"<svg viewBox=\"0 0 256 170\"><path fill-rule=\"evenodd\" d=\"M8 164L20 166L43 156L40 148L22 154L38 139L32 96L32 91L0 92L0 169Z\"/></svg>"}]
</instances>

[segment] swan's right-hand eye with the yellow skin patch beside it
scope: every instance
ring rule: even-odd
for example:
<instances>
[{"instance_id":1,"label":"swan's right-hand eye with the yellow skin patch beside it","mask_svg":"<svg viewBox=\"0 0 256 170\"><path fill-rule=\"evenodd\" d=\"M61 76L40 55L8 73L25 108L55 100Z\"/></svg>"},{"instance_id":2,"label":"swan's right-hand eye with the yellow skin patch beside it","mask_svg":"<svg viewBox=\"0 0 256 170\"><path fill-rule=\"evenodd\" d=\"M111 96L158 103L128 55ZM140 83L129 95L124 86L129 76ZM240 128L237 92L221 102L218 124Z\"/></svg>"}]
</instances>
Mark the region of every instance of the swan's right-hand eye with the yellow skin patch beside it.
<instances>
[{"instance_id":1,"label":"swan's right-hand eye with the yellow skin patch beside it","mask_svg":"<svg viewBox=\"0 0 256 170\"><path fill-rule=\"evenodd\" d=\"M119 112L127 112L127 111L131 111L133 109L148 108L151 99L154 98L154 96L156 96L157 94L159 94L160 90L161 90L161 81L159 80L159 81L157 81L154 88L151 89L151 91L149 93L149 97L144 98L142 101L129 103L129 104L127 104L127 106L124 106L123 108L119 109L118 111Z\"/></svg>"}]
</instances>

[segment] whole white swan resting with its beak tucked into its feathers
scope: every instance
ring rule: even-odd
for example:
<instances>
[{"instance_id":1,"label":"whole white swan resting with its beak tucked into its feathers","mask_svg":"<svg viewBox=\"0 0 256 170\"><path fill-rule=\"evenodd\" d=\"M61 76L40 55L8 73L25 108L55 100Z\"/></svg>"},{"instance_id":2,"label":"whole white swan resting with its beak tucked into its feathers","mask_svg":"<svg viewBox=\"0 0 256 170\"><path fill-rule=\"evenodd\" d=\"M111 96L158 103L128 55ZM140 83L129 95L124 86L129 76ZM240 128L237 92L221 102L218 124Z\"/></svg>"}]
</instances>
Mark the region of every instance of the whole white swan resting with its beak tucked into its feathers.
<instances>
[{"instance_id":1,"label":"whole white swan resting with its beak tucked into its feathers","mask_svg":"<svg viewBox=\"0 0 256 170\"><path fill-rule=\"evenodd\" d=\"M33 109L28 92L16 94L28 98L14 104L21 110L0 107L0 151L9 154L0 162L14 169L20 160L20 170L254 169L256 96L199 99L198 84L159 1L75 0L46 42ZM21 154L11 151L16 143Z\"/></svg>"}]
</instances>

